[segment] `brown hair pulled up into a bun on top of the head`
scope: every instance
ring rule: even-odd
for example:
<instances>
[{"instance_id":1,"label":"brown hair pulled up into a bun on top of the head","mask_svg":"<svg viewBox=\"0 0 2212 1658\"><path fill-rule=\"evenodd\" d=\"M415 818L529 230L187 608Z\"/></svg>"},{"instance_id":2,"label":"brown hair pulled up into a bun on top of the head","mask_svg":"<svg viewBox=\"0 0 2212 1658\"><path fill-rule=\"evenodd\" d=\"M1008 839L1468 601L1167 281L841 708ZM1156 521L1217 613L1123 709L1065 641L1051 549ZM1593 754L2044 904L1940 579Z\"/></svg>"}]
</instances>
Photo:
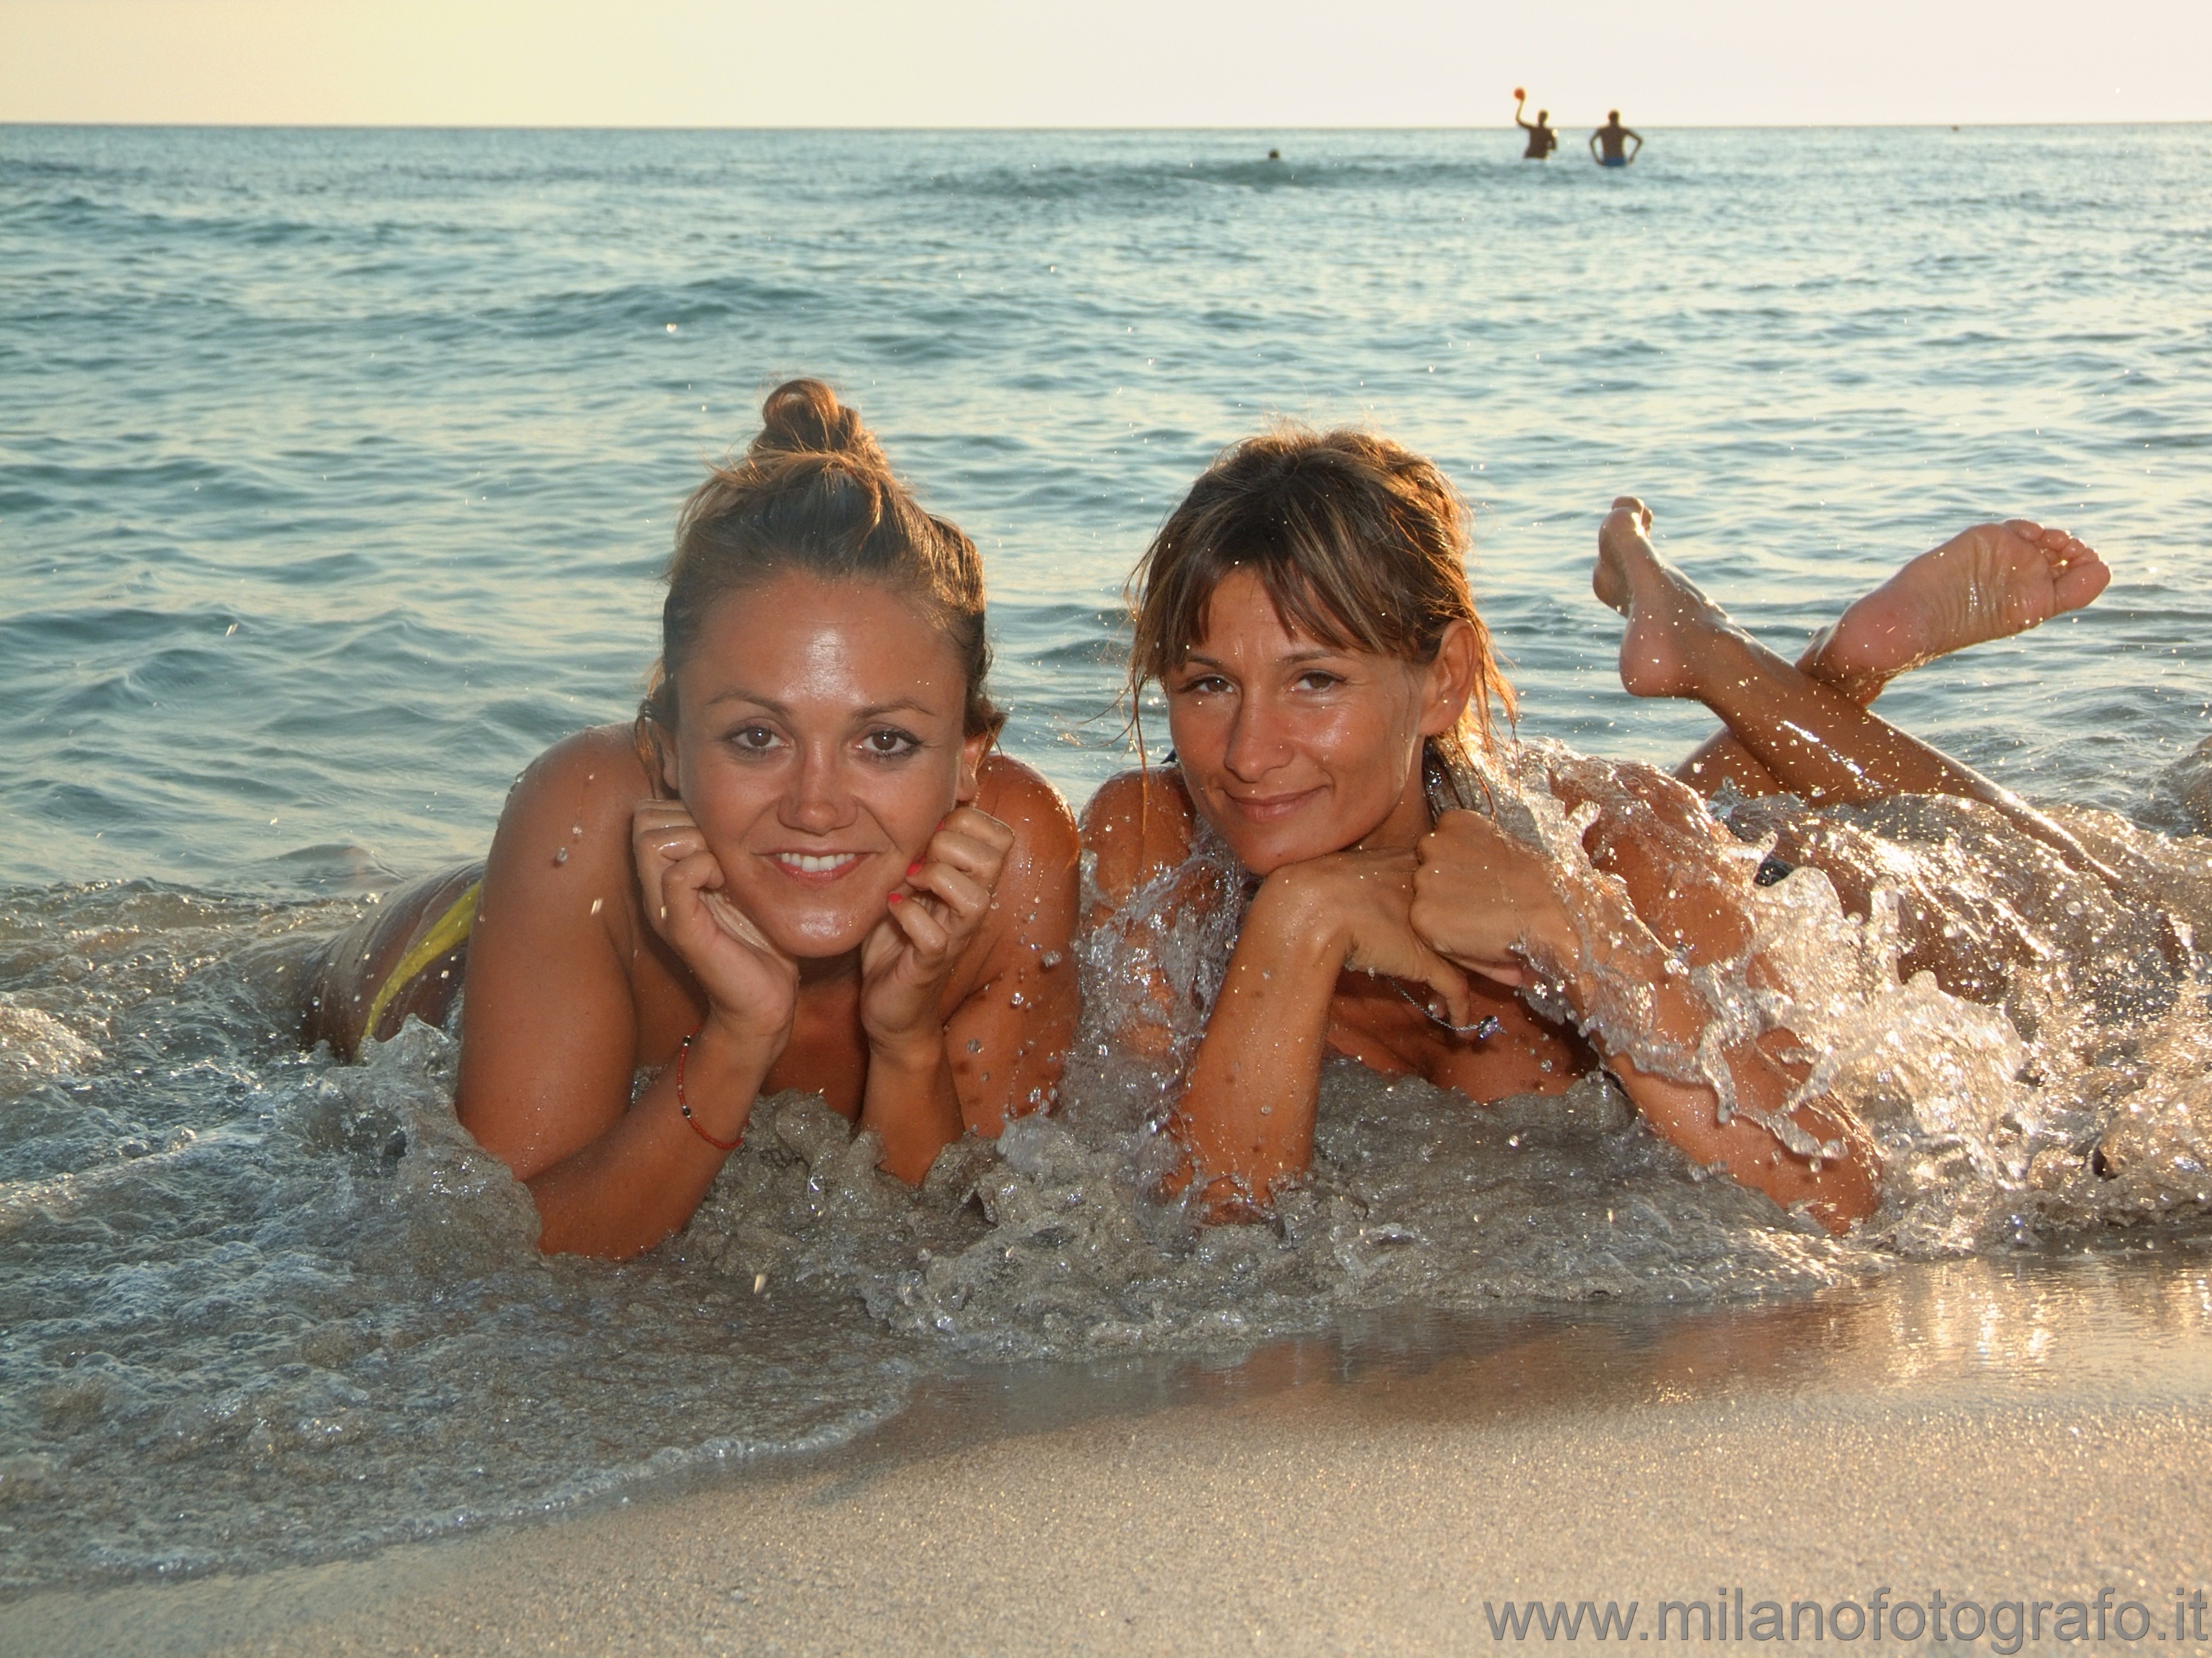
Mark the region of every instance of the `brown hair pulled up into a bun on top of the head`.
<instances>
[{"instance_id":1,"label":"brown hair pulled up into a bun on top of the head","mask_svg":"<svg viewBox=\"0 0 2212 1658\"><path fill-rule=\"evenodd\" d=\"M684 502L661 604L661 659L637 710L641 754L677 727L677 679L708 612L792 570L874 581L914 599L960 657L962 730L978 736L1004 725L984 690L991 646L975 544L916 504L858 409L821 380L785 380L761 402L761 433L743 458L714 466ZM659 767L648 769L659 776Z\"/></svg>"}]
</instances>

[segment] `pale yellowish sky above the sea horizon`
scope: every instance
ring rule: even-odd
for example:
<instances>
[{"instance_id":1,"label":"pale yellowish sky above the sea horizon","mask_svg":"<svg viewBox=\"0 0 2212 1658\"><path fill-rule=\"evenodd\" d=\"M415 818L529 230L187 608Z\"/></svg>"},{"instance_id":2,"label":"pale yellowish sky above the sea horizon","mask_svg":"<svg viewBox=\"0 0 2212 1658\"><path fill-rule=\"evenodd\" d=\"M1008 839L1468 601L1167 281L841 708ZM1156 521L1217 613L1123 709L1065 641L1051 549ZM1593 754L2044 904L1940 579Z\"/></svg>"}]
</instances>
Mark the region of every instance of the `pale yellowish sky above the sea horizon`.
<instances>
[{"instance_id":1,"label":"pale yellowish sky above the sea horizon","mask_svg":"<svg viewBox=\"0 0 2212 1658\"><path fill-rule=\"evenodd\" d=\"M2212 0L0 0L0 122L2212 119Z\"/></svg>"}]
</instances>

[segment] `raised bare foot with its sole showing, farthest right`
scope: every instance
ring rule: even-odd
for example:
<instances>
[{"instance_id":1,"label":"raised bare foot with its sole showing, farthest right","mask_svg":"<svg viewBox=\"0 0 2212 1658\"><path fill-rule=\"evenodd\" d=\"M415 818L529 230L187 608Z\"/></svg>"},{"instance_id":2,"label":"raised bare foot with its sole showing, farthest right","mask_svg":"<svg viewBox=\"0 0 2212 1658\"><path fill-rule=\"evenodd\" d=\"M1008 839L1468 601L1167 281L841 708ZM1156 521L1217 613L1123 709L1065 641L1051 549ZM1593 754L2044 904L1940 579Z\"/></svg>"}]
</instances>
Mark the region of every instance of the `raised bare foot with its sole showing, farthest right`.
<instances>
[{"instance_id":1,"label":"raised bare foot with its sole showing, farthest right","mask_svg":"<svg viewBox=\"0 0 2212 1658\"><path fill-rule=\"evenodd\" d=\"M1871 703L1907 668L2079 610L2110 579L2104 559L2066 531L2024 517L1975 524L1845 610L1798 668Z\"/></svg>"}]
</instances>

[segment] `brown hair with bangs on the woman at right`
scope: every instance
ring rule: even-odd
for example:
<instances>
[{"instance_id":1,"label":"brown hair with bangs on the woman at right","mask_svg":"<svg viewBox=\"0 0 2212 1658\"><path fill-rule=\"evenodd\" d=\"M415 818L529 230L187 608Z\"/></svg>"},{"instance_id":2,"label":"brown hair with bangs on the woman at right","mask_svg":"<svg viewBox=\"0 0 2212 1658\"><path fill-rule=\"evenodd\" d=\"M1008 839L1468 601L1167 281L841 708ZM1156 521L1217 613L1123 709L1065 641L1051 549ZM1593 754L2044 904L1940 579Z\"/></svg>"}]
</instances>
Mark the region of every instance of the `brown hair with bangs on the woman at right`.
<instances>
[{"instance_id":1,"label":"brown hair with bangs on the woman at right","mask_svg":"<svg viewBox=\"0 0 2212 1658\"><path fill-rule=\"evenodd\" d=\"M1467 502L1431 460L1369 431L1279 427L1221 451L1130 575L1128 692L1166 679L1197 648L1214 590L1250 570L1285 628L1332 650L1431 663L1444 630L1475 637L1475 685L1455 730L1431 736L1422 772L1460 798L1467 743L1493 747L1491 701L1513 688L1467 586ZM1469 805L1460 798L1462 805Z\"/></svg>"}]
</instances>

